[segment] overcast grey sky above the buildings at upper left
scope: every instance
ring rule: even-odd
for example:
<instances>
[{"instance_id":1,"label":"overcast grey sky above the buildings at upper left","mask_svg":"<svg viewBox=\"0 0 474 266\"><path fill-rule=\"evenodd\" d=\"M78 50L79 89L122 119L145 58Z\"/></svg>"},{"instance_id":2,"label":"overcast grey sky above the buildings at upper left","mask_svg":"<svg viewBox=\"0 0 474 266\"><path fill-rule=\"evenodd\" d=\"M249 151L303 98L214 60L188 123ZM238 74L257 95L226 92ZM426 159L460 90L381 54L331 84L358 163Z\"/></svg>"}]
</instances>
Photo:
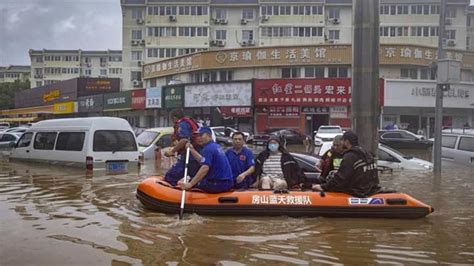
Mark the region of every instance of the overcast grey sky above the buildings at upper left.
<instances>
[{"instance_id":1,"label":"overcast grey sky above the buildings at upper left","mask_svg":"<svg viewBox=\"0 0 474 266\"><path fill-rule=\"evenodd\" d=\"M29 49L120 50L121 13L120 0L0 0L0 66L29 65Z\"/></svg>"}]
</instances>

